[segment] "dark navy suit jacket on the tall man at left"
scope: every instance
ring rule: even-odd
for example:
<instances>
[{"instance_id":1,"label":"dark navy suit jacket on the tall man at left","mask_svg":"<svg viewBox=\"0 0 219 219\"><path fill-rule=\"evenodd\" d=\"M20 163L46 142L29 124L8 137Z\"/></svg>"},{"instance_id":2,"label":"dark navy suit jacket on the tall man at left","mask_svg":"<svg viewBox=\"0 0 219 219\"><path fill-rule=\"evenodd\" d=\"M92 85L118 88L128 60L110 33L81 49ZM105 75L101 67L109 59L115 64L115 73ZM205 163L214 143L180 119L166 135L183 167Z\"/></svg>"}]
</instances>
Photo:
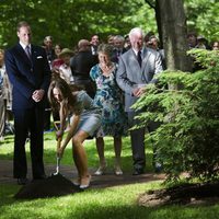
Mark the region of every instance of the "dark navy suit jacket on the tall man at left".
<instances>
[{"instance_id":1,"label":"dark navy suit jacket on the tall man at left","mask_svg":"<svg viewBox=\"0 0 219 219\"><path fill-rule=\"evenodd\" d=\"M50 69L45 49L34 45L31 48L32 60L27 58L20 44L5 51L7 73L13 87L13 110L44 106L44 101L35 103L32 94L35 90L43 89L46 96L50 82Z\"/></svg>"}]
</instances>

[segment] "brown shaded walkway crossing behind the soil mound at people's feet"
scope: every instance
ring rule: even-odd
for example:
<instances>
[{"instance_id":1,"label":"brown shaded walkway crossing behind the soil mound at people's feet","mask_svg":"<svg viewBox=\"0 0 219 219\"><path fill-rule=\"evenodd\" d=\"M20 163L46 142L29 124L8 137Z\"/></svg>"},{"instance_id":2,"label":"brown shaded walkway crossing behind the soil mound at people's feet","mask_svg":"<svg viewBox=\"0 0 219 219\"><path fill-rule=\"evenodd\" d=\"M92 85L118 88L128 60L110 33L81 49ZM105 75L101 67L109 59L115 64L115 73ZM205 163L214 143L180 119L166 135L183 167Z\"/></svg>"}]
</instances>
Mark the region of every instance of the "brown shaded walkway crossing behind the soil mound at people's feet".
<instances>
[{"instance_id":1,"label":"brown shaded walkway crossing behind the soil mound at people's feet","mask_svg":"<svg viewBox=\"0 0 219 219\"><path fill-rule=\"evenodd\" d=\"M46 164L45 171L47 175L56 172L55 164ZM60 173L68 180L73 180L77 177L76 169L70 165L61 165ZM94 170L90 169L90 173L94 173ZM1 184L14 184L16 181L13 178L13 162L9 160L0 161L0 185ZM32 178L31 165L28 164L28 178ZM92 187L111 187L116 185L126 185L132 183L146 183L150 181L163 180L164 174L146 173L142 175L134 176L130 173L124 173L123 175L116 176L115 174L108 172L105 175L95 176L92 175L91 186Z\"/></svg>"}]
</instances>

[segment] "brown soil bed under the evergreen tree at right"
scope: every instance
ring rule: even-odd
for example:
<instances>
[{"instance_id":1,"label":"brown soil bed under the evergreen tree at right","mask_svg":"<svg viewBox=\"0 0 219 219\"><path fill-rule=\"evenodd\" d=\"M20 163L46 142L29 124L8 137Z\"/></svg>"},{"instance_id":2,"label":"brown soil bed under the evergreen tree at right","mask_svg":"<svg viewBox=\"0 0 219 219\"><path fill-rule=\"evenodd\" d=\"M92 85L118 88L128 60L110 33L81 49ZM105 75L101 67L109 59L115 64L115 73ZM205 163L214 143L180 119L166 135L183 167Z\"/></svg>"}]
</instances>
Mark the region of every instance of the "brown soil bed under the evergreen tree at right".
<instances>
[{"instance_id":1,"label":"brown soil bed under the evergreen tree at right","mask_svg":"<svg viewBox=\"0 0 219 219\"><path fill-rule=\"evenodd\" d=\"M219 201L219 183L184 184L166 189L149 191L139 196L140 206L197 205Z\"/></svg>"}]
</instances>

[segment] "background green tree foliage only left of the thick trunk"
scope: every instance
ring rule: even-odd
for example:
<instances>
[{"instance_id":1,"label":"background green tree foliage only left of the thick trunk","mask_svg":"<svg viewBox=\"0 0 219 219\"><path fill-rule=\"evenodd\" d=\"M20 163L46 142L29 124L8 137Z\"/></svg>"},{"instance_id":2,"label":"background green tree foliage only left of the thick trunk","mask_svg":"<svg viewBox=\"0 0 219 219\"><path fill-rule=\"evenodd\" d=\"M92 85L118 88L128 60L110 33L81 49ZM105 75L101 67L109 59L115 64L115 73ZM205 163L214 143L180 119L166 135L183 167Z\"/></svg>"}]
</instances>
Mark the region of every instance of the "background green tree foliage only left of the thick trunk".
<instances>
[{"instance_id":1,"label":"background green tree foliage only left of the thick trunk","mask_svg":"<svg viewBox=\"0 0 219 219\"><path fill-rule=\"evenodd\" d=\"M142 0L1 0L0 9L0 44L5 47L16 42L15 26L22 20L32 25L37 44L51 35L65 46L90 39L92 34L105 39L108 34L125 35L139 23L148 26L142 22L148 11ZM154 20L151 18L150 24L151 21Z\"/></svg>"}]
</instances>

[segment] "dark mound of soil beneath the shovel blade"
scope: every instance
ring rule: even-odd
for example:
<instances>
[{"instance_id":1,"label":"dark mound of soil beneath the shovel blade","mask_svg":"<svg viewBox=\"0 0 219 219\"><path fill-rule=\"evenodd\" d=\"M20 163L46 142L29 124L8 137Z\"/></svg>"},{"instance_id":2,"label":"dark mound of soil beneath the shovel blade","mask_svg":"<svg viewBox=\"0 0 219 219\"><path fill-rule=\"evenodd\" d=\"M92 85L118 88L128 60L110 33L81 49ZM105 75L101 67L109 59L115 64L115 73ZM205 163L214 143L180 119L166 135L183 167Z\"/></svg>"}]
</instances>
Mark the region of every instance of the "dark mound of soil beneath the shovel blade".
<instances>
[{"instance_id":1,"label":"dark mound of soil beneath the shovel blade","mask_svg":"<svg viewBox=\"0 0 219 219\"><path fill-rule=\"evenodd\" d=\"M51 175L45 180L35 180L24 185L18 194L14 195L16 199L34 199L45 197L64 196L80 192L71 181L61 174Z\"/></svg>"}]
</instances>

